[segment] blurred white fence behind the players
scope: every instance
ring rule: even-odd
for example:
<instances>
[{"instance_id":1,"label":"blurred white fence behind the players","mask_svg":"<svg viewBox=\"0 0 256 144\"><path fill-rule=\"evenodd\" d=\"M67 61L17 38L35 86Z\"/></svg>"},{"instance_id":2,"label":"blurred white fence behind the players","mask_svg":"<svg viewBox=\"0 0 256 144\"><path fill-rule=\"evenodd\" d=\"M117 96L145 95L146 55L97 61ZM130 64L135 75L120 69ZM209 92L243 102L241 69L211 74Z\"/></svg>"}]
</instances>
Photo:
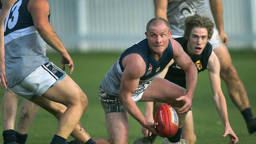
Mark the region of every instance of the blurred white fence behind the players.
<instances>
[{"instance_id":1,"label":"blurred white fence behind the players","mask_svg":"<svg viewBox=\"0 0 256 144\"><path fill-rule=\"evenodd\" d=\"M145 38L153 0L48 0L50 23L69 51L123 51ZM256 50L256 0L223 0L228 48Z\"/></svg>"}]
</instances>

